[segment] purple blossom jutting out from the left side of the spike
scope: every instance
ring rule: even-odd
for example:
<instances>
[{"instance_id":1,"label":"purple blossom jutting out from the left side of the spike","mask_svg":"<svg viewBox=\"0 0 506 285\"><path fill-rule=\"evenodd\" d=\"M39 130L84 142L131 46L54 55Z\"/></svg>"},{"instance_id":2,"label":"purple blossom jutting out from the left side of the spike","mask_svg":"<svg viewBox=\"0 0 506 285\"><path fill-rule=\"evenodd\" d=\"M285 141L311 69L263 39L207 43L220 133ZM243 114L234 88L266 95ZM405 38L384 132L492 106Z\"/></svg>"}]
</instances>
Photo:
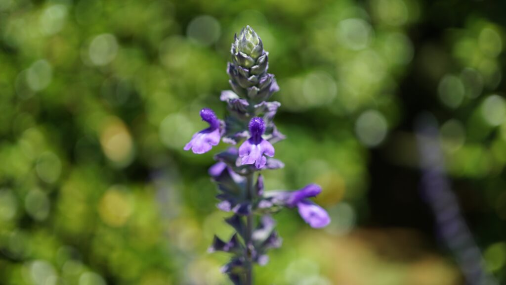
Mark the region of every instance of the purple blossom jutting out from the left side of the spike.
<instances>
[{"instance_id":1,"label":"purple blossom jutting out from the left side of the spike","mask_svg":"<svg viewBox=\"0 0 506 285\"><path fill-rule=\"evenodd\" d=\"M202 121L209 123L209 127L195 133L186 144L184 150L192 150L195 154L203 154L210 151L214 146L218 145L221 138L220 120L216 117L213 110L204 108L200 111Z\"/></svg>"}]
</instances>

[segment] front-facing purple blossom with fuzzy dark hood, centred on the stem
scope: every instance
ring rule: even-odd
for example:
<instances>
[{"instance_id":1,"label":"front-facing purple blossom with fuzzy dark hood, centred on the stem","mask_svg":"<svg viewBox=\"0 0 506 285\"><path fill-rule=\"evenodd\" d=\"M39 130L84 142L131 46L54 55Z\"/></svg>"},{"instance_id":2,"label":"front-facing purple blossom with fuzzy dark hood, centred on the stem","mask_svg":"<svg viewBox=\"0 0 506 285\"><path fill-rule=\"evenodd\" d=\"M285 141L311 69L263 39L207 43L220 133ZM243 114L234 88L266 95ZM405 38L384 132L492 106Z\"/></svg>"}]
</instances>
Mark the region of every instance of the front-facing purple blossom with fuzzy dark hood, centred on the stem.
<instances>
[{"instance_id":1,"label":"front-facing purple blossom with fuzzy dark hood, centred on the stem","mask_svg":"<svg viewBox=\"0 0 506 285\"><path fill-rule=\"evenodd\" d=\"M239 157L242 157L241 164L255 164L257 169L261 169L267 163L264 156L273 157L274 147L271 143L262 138L265 132L265 122L262 118L255 117L249 121L249 133L251 137L244 141L239 148Z\"/></svg>"}]
</instances>

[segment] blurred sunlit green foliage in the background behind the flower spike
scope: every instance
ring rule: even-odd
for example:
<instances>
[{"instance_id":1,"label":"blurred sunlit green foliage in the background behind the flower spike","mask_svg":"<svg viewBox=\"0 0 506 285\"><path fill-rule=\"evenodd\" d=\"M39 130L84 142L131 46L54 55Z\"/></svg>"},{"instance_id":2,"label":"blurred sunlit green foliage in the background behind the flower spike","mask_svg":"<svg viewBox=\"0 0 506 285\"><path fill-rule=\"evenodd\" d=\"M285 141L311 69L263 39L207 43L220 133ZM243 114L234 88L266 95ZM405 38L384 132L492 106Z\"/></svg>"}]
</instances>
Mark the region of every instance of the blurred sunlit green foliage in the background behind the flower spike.
<instances>
[{"instance_id":1,"label":"blurred sunlit green foliage in the background behind the flower spike","mask_svg":"<svg viewBox=\"0 0 506 285\"><path fill-rule=\"evenodd\" d=\"M212 154L182 149L200 108L224 114L230 43L246 24L269 51L288 136L276 146L287 167L266 185L320 184L333 219L316 232L278 215L284 246L257 284L462 281L451 257L413 250L423 234L361 230L374 220L369 148L417 167L403 127L405 101L418 102L402 91L413 74L441 120L450 175L483 191L480 245L504 281L506 245L486 234L506 223L504 27L464 9L452 26L432 14L453 2L441 3L0 0L0 283L225 282L226 256L205 253L213 233L231 232L206 175ZM424 25L437 30L430 42ZM392 251L409 262L367 242L406 237Z\"/></svg>"}]
</instances>

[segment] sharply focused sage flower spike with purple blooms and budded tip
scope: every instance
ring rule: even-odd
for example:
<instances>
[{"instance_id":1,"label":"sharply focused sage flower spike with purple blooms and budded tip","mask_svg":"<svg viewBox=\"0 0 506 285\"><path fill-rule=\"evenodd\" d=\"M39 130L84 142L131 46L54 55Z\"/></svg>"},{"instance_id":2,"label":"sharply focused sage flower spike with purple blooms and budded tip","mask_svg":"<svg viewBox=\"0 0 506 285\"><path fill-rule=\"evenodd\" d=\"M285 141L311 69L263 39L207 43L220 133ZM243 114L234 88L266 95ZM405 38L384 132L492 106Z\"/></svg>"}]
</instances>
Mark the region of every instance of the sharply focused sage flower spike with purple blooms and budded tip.
<instances>
[{"instance_id":1,"label":"sharply focused sage flower spike with purple blooms and budded tip","mask_svg":"<svg viewBox=\"0 0 506 285\"><path fill-rule=\"evenodd\" d=\"M264 191L262 170L284 167L273 158L273 145L285 138L273 122L281 104L267 101L279 87L274 75L267 73L268 52L251 27L235 35L231 53L227 73L232 90L223 91L220 97L227 103L228 115L222 121L213 110L202 109L200 117L209 127L195 133L184 149L202 154L220 140L232 145L215 156L217 162L208 172L218 186L217 206L232 213L225 221L235 233L226 241L215 236L209 251L230 253L231 261L222 268L223 273L236 285L251 285L254 264L265 265L267 251L281 245L273 213L283 207L297 208L313 228L325 227L330 218L309 199L321 192L318 185L297 191Z\"/></svg>"}]
</instances>

